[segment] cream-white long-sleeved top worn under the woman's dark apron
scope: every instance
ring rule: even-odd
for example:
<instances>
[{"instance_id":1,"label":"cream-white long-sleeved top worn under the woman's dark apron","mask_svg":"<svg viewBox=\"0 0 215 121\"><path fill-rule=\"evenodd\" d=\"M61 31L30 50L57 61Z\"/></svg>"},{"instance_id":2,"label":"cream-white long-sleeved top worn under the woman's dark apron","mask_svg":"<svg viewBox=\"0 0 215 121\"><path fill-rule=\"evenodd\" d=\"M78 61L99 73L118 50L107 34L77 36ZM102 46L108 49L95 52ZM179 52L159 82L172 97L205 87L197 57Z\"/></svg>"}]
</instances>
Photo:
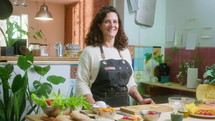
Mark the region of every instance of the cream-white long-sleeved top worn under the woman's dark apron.
<instances>
[{"instance_id":1,"label":"cream-white long-sleeved top worn under the woman's dark apron","mask_svg":"<svg viewBox=\"0 0 215 121\"><path fill-rule=\"evenodd\" d=\"M104 51L106 60L121 59L119 52L116 48L107 48L103 46L103 51ZM131 61L131 54L129 50L126 48L120 52L123 56L123 59L128 61L128 63L131 66L132 61ZM101 57L101 51L99 46L97 47L88 46L83 50L79 58L79 64L78 64L78 70L77 70L77 78L76 78L77 95L92 94L90 88L98 75L101 60L102 60L102 57ZM128 90L132 86L136 86L136 83L134 82L133 73L130 77L129 83L127 84Z\"/></svg>"}]
</instances>

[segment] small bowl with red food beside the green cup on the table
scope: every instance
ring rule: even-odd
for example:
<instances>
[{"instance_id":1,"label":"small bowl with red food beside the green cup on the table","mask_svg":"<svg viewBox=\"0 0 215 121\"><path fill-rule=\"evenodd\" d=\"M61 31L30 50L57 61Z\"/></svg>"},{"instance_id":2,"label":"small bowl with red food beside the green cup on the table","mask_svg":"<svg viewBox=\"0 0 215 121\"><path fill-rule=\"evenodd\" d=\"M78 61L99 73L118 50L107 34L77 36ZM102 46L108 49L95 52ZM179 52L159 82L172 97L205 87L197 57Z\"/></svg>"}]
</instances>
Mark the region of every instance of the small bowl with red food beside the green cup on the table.
<instances>
[{"instance_id":1,"label":"small bowl with red food beside the green cup on the table","mask_svg":"<svg viewBox=\"0 0 215 121\"><path fill-rule=\"evenodd\" d=\"M140 115L144 121L157 121L160 118L161 112L142 110L140 111Z\"/></svg>"}]
</instances>

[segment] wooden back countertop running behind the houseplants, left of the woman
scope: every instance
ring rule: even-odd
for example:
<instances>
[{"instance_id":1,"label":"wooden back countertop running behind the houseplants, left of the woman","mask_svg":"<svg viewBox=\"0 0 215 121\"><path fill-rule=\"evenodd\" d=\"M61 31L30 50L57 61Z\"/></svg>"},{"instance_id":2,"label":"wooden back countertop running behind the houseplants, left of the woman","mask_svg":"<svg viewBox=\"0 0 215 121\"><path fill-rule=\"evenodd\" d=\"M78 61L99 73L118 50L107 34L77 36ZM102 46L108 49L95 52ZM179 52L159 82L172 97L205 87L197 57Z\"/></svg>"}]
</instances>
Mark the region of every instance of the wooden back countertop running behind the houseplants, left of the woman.
<instances>
[{"instance_id":1,"label":"wooden back countertop running behind the houseplants, left of the woman","mask_svg":"<svg viewBox=\"0 0 215 121\"><path fill-rule=\"evenodd\" d=\"M34 56L34 64L77 64L77 57ZM0 56L0 64L16 64L18 56Z\"/></svg>"}]
</instances>

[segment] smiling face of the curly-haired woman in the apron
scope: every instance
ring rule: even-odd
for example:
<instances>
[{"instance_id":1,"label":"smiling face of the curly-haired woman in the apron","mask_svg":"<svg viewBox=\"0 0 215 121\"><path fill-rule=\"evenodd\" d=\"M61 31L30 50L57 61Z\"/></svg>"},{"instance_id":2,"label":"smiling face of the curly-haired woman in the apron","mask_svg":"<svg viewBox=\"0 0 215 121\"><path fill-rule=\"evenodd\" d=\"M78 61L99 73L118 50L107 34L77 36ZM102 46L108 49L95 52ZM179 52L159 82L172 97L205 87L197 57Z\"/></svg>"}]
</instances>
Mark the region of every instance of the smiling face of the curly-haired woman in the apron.
<instances>
[{"instance_id":1,"label":"smiling face of the curly-haired woman in the apron","mask_svg":"<svg viewBox=\"0 0 215 121\"><path fill-rule=\"evenodd\" d=\"M117 14L115 12L108 13L103 22L99 24L99 28L102 31L104 40L114 39L119 29Z\"/></svg>"}]
</instances>

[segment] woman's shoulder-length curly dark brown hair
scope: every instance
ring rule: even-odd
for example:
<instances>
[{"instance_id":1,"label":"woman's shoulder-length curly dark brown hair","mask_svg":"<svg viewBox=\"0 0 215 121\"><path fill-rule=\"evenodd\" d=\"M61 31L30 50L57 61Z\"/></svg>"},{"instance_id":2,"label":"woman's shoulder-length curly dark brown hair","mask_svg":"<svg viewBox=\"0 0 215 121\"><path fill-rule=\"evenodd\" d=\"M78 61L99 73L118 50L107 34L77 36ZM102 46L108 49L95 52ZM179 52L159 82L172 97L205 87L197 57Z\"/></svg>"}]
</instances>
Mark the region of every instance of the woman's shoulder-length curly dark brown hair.
<instances>
[{"instance_id":1,"label":"woman's shoulder-length curly dark brown hair","mask_svg":"<svg viewBox=\"0 0 215 121\"><path fill-rule=\"evenodd\" d=\"M119 13L113 6L104 6L102 7L99 12L96 14L95 18L93 19L90 31L88 32L85 43L87 46L101 46L104 42L102 31L99 29L98 24L102 24L106 15L110 12L115 12L118 16L119 22L119 29L117 35L115 37L114 47L118 50L123 50L128 46L128 37L124 32L124 28L122 26L122 21L120 19Z\"/></svg>"}]
</instances>

